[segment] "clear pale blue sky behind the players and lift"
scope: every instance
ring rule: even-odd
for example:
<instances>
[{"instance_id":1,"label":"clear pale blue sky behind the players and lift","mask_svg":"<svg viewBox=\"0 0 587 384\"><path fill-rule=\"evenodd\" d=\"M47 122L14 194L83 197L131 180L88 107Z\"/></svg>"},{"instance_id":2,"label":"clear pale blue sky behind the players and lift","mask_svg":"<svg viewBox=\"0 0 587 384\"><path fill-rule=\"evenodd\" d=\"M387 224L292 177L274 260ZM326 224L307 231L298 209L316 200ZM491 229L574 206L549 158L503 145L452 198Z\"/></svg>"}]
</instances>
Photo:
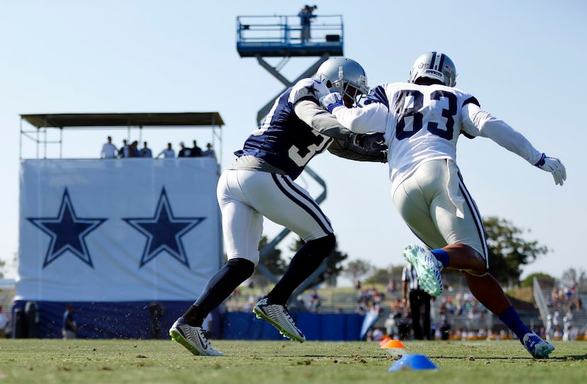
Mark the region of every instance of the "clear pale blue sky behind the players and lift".
<instances>
[{"instance_id":1,"label":"clear pale blue sky behind the players and lift","mask_svg":"<svg viewBox=\"0 0 587 384\"><path fill-rule=\"evenodd\" d=\"M21 114L218 111L222 164L256 127L257 111L284 86L255 59L236 51L236 17L296 15L291 1L7 1L0 0L0 258L18 251ZM458 164L483 216L530 231L550 253L524 269L561 277L587 269L583 203L587 85L587 3L553 1L313 1L318 15L342 15L344 54L360 62L370 86L405 81L412 62L446 52L457 87L524 134L539 151L561 158L568 180L552 176L484 138L460 139ZM281 74L293 80L316 58L293 58ZM277 65L279 59L267 59ZM125 130L64 134L63 156L98 157L105 136L117 146ZM131 133L129 139L139 139ZM154 153L172 141L199 144L209 133L144 131ZM23 146L25 157L34 156ZM220 148L216 148L217 151ZM58 156L58 152L49 153ZM326 182L322 204L339 250L378 267L403 264L417 243L391 203L388 168L329 153L310 167ZM320 193L308 177L298 179ZM281 228L266 223L269 237ZM286 238L284 246L293 242Z\"/></svg>"}]
</instances>

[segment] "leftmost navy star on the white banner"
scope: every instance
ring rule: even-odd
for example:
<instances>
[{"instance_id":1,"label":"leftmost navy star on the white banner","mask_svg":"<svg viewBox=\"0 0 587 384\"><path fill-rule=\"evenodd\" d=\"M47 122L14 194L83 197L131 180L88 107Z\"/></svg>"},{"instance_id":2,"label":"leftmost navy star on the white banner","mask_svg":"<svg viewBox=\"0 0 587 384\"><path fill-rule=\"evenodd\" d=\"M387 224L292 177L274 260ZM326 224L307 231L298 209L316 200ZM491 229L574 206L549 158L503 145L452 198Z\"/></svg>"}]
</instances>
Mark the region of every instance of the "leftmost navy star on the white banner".
<instances>
[{"instance_id":1,"label":"leftmost navy star on the white banner","mask_svg":"<svg viewBox=\"0 0 587 384\"><path fill-rule=\"evenodd\" d=\"M107 219L81 218L76 215L67 188L57 217L28 217L28 221L51 237L43 269L69 251L90 267L94 267L86 245L86 236Z\"/></svg>"}]
</instances>

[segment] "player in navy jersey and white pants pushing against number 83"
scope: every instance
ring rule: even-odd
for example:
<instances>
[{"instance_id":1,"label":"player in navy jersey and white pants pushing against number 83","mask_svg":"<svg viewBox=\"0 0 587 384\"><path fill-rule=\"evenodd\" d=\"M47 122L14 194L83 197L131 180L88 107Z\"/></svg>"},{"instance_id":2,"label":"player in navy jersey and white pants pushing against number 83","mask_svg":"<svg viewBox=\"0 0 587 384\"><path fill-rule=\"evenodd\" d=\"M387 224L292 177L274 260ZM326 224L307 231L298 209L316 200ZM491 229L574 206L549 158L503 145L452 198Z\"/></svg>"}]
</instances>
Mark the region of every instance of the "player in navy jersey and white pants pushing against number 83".
<instances>
[{"instance_id":1,"label":"player in navy jersey and white pants pushing against number 83","mask_svg":"<svg viewBox=\"0 0 587 384\"><path fill-rule=\"evenodd\" d=\"M217 197L228 262L170 329L170 336L193 354L222 355L210 347L202 322L254 272L264 216L298 234L305 244L253 312L285 337L306 339L286 303L330 255L336 239L318 203L294 180L325 150L357 161L387 161L385 148L376 144L383 135L354 134L322 109L320 98L330 91L342 94L347 107L358 105L368 93L364 69L351 59L327 59L315 78L303 78L279 95L265 121L235 152L236 161L221 174Z\"/></svg>"}]
</instances>

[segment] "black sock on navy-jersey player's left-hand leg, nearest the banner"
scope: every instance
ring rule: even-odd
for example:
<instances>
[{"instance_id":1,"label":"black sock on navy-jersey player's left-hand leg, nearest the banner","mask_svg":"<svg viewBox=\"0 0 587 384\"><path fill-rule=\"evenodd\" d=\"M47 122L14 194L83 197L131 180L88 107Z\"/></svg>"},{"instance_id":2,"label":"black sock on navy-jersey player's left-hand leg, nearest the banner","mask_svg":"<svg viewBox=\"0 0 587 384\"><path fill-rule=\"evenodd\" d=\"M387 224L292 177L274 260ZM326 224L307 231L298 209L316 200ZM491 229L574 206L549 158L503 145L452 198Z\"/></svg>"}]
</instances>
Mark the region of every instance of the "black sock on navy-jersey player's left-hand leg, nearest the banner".
<instances>
[{"instance_id":1,"label":"black sock on navy-jersey player's left-hand leg, nearest the banner","mask_svg":"<svg viewBox=\"0 0 587 384\"><path fill-rule=\"evenodd\" d=\"M192 327L202 327L206 316L231 296L231 293L255 272L255 264L247 259L231 259L212 276L194 305L182 316Z\"/></svg>"}]
</instances>

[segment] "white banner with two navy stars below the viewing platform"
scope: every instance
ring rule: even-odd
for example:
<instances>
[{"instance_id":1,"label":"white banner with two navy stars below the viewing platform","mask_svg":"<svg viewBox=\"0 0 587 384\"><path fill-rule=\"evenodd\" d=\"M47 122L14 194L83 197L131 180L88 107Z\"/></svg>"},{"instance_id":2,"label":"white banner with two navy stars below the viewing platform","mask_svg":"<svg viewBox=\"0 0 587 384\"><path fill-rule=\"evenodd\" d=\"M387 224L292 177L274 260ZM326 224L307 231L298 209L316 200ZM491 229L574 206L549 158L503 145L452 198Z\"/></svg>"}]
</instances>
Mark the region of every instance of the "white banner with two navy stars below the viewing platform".
<instances>
[{"instance_id":1,"label":"white banner with two navy stars below the viewing platform","mask_svg":"<svg viewBox=\"0 0 587 384\"><path fill-rule=\"evenodd\" d=\"M214 158L21 162L16 299L194 300L223 260Z\"/></svg>"}]
</instances>

